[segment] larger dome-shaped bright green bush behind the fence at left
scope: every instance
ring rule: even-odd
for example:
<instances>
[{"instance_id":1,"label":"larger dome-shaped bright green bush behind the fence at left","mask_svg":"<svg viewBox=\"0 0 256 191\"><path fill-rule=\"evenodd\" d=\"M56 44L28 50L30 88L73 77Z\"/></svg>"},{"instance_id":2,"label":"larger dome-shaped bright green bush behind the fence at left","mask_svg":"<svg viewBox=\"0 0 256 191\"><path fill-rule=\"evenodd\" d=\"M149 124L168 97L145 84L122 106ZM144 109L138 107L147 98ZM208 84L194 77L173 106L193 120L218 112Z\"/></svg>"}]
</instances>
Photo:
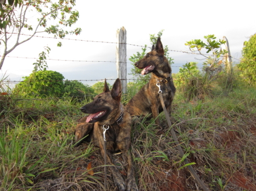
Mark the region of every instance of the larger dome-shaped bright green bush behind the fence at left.
<instances>
[{"instance_id":1,"label":"larger dome-shaped bright green bush behind the fence at left","mask_svg":"<svg viewBox=\"0 0 256 191\"><path fill-rule=\"evenodd\" d=\"M29 77L23 78L23 82L16 84L14 94L31 97L63 96L64 77L57 71L36 71L30 74Z\"/></svg>"}]
</instances>

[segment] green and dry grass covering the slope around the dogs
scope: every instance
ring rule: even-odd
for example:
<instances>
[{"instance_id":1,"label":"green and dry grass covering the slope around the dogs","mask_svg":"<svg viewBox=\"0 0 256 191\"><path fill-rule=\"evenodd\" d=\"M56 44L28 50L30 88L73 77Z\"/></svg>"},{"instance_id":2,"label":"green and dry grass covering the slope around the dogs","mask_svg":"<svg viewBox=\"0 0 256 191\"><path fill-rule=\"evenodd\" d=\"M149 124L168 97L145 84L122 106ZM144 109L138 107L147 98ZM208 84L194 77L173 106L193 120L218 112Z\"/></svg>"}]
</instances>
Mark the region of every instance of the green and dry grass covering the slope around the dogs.
<instances>
[{"instance_id":1,"label":"green and dry grass covering the slope around the dogs","mask_svg":"<svg viewBox=\"0 0 256 191\"><path fill-rule=\"evenodd\" d=\"M99 149L93 143L73 147L73 131L83 116L79 108L85 102L5 95L0 103L0 190L104 190ZM154 120L134 121L131 151L139 190L201 190L184 158L211 190L253 190L249 185L256 185L255 87L238 86L225 94L218 90L192 101L178 87L172 108L183 158L163 113L163 130ZM114 162L125 174L119 155ZM244 187L237 183L237 174L248 180ZM107 187L114 190L109 173Z\"/></svg>"}]
</instances>

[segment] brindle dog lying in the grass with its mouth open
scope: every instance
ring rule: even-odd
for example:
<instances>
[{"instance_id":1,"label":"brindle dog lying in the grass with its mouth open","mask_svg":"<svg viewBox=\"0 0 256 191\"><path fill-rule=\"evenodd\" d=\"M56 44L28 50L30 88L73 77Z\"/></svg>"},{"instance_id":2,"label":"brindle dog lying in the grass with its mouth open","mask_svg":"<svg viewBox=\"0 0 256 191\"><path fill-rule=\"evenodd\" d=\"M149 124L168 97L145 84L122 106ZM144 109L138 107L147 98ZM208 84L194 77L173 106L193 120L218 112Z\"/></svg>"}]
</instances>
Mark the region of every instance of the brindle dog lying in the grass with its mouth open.
<instances>
[{"instance_id":1,"label":"brindle dog lying in the grass with its mouth open","mask_svg":"<svg viewBox=\"0 0 256 191\"><path fill-rule=\"evenodd\" d=\"M100 147L101 155L104 157L106 152L106 160L110 166L115 186L119 190L137 191L138 187L134 178L133 160L129 151L131 145L131 116L121 104L121 81L118 78L113 84L110 91L105 80L104 92L94 97L92 103L81 107L84 113L91 113L89 116L82 118L76 127L75 141L77 144L83 137L87 137L87 141L92 139L94 143ZM106 130L106 151L104 150L104 129ZM121 173L114 166L112 154L114 152L122 152L122 157L127 163L126 182Z\"/></svg>"}]
</instances>

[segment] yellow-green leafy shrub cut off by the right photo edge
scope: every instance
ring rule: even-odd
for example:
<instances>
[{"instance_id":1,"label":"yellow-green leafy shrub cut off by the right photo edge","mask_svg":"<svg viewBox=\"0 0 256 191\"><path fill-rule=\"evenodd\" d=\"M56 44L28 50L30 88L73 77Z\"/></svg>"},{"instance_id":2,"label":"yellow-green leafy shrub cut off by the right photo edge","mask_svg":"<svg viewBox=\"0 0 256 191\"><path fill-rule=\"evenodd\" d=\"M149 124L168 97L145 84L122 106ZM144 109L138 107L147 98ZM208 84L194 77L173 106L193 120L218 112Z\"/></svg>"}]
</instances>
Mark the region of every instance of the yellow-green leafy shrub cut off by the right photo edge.
<instances>
[{"instance_id":1,"label":"yellow-green leafy shrub cut off by the right photo edge","mask_svg":"<svg viewBox=\"0 0 256 191\"><path fill-rule=\"evenodd\" d=\"M250 36L249 41L245 41L238 69L243 71L246 82L256 82L256 33Z\"/></svg>"}]
</instances>

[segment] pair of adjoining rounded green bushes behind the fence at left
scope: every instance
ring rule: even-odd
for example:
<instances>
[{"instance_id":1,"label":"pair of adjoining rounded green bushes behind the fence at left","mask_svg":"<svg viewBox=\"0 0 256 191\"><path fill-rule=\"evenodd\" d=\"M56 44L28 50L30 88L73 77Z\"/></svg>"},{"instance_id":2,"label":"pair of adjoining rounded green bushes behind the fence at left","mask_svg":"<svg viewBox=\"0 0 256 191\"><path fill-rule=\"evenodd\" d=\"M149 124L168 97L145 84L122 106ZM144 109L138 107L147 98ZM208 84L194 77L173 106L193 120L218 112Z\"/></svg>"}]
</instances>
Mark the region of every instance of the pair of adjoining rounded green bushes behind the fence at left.
<instances>
[{"instance_id":1,"label":"pair of adjoining rounded green bushes behind the fence at left","mask_svg":"<svg viewBox=\"0 0 256 191\"><path fill-rule=\"evenodd\" d=\"M24 77L23 82L16 84L13 93L21 97L73 97L84 100L94 94L92 87L84 85L77 80L64 80L57 71L35 71L29 77Z\"/></svg>"}]
</instances>

